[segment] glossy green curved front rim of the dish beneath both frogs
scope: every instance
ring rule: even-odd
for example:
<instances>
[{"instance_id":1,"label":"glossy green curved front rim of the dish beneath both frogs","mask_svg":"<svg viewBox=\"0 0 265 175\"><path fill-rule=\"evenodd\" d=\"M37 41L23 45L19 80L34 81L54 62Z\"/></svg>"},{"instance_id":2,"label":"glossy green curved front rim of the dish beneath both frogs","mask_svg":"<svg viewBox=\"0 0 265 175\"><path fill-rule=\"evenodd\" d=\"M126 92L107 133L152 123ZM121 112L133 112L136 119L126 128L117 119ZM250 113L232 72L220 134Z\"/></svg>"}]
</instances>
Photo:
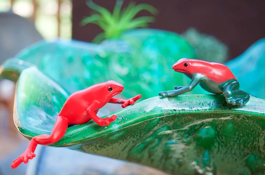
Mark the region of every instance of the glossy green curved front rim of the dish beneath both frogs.
<instances>
[{"instance_id":1,"label":"glossy green curved front rim of the dish beneath both frogs","mask_svg":"<svg viewBox=\"0 0 265 175\"><path fill-rule=\"evenodd\" d=\"M127 108L118 110L103 118L117 115L116 121L107 127L101 127L93 121L82 125L75 125L67 129L64 137L49 146L68 147L80 143L87 143L92 139L105 134L118 132L128 126L139 124L143 121L170 115L182 115L193 113L233 113L252 115L265 119L265 100L251 97L243 106L227 105L222 95L179 95L178 97L162 98L152 97ZM14 109L15 111L16 109ZM130 119L126 119L130 116ZM14 121L19 126L19 116L14 113ZM44 134L17 127L22 135L31 139L35 135ZM52 128L51 128L52 129Z\"/></svg>"}]
</instances>

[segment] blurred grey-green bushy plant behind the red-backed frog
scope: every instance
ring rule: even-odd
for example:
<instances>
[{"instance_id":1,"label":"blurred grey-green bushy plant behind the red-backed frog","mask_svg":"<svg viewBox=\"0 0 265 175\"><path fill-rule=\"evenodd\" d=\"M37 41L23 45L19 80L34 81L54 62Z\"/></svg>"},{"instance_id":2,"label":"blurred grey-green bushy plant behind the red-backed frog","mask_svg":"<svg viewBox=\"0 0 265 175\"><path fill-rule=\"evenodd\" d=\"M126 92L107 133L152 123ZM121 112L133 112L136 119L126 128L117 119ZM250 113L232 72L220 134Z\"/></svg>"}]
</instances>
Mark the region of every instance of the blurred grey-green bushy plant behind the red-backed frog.
<instances>
[{"instance_id":1,"label":"blurred grey-green bushy plant behind the red-backed frog","mask_svg":"<svg viewBox=\"0 0 265 175\"><path fill-rule=\"evenodd\" d=\"M228 47L212 35L199 33L194 28L182 34L193 46L198 59L224 63L228 58Z\"/></svg>"}]
</instances>

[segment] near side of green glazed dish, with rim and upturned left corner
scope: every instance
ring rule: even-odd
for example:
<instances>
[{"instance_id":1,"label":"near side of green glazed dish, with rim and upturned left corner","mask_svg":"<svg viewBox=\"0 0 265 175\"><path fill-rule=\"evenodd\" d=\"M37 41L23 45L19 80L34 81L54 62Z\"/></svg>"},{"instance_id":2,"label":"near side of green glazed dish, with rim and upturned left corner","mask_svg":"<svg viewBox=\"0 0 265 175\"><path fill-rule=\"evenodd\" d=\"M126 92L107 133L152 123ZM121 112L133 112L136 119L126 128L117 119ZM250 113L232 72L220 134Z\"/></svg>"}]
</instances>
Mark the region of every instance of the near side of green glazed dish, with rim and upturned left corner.
<instances>
[{"instance_id":1,"label":"near side of green glazed dish, with rim and upturned left corner","mask_svg":"<svg viewBox=\"0 0 265 175\"><path fill-rule=\"evenodd\" d=\"M50 133L67 93L38 71L17 82L14 121L28 139ZM71 126L52 146L127 160L171 174L259 174L265 163L265 100L229 106L222 95L153 97L110 115Z\"/></svg>"}]
</instances>

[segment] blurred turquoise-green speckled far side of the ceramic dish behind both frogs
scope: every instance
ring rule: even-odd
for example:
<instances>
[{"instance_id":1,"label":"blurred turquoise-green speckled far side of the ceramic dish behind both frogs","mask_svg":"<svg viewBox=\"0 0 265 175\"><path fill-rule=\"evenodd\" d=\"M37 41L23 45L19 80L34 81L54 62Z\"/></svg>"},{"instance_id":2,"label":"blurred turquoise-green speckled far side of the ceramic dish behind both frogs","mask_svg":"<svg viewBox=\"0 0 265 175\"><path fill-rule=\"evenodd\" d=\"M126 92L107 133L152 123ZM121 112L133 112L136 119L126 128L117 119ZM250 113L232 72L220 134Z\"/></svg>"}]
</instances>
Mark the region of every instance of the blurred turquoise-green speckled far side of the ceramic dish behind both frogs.
<instances>
[{"instance_id":1,"label":"blurred turquoise-green speckled far side of the ceramic dish behind both frogs","mask_svg":"<svg viewBox=\"0 0 265 175\"><path fill-rule=\"evenodd\" d=\"M188 84L190 80L172 71L171 66L180 58L196 58L196 55L189 43L176 33L135 29L124 32L117 40L100 44L41 41L22 50L15 58L35 64L70 93L114 80L125 87L123 96L142 94L142 99L146 99L172 89L175 84ZM18 64L19 60L17 65L9 65L10 62L4 63L4 69L13 66L15 71L21 71L27 67ZM205 91L197 87L189 94L201 93Z\"/></svg>"}]
</instances>

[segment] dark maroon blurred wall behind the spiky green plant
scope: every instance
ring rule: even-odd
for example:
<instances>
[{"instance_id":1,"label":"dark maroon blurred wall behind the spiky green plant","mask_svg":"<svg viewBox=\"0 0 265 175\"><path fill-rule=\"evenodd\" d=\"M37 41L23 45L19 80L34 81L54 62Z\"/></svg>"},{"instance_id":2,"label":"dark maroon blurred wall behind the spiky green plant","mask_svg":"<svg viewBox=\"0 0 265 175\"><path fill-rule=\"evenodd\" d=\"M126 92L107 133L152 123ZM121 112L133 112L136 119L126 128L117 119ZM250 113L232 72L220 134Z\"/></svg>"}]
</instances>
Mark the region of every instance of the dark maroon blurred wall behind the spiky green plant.
<instances>
[{"instance_id":1,"label":"dark maroon blurred wall behind the spiky green plant","mask_svg":"<svg viewBox=\"0 0 265 175\"><path fill-rule=\"evenodd\" d=\"M84 16L92 10L86 6L87 0L72 1L72 38L91 42L102 32L95 24L80 25ZM112 10L116 0L94 0L100 6ZM124 0L123 7L129 4ZM228 59L235 58L251 44L265 37L265 1L196 1L196 0L135 0L156 7L159 14L149 27L183 33L189 27L201 33L212 34L228 46ZM141 11L137 16L150 15ZM136 16L136 17L137 17Z\"/></svg>"}]
</instances>

